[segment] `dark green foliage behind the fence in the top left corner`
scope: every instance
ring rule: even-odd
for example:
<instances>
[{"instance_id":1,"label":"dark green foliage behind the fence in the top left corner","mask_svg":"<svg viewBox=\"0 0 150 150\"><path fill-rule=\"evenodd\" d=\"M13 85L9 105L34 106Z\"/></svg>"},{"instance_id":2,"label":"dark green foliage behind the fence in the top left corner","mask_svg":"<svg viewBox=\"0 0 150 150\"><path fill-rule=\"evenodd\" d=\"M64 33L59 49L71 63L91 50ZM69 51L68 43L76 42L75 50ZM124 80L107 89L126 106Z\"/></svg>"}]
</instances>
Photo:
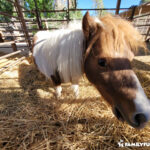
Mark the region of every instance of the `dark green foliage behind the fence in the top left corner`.
<instances>
[{"instance_id":1,"label":"dark green foliage behind the fence in the top left corner","mask_svg":"<svg viewBox=\"0 0 150 150\"><path fill-rule=\"evenodd\" d=\"M9 15L13 14L13 6L6 0L0 0L0 11L7 12ZM0 21L8 22L10 17L0 15Z\"/></svg>"}]
</instances>

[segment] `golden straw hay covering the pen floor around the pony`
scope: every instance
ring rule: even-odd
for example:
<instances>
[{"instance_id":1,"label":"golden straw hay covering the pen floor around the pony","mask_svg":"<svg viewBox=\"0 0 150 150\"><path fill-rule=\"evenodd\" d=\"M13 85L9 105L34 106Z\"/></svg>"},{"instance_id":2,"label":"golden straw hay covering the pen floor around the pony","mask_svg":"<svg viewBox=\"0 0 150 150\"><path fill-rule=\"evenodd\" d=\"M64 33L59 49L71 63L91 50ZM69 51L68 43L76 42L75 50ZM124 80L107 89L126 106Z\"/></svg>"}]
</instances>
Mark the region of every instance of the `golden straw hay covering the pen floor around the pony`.
<instances>
[{"instance_id":1,"label":"golden straw hay covering the pen floor around the pony","mask_svg":"<svg viewBox=\"0 0 150 150\"><path fill-rule=\"evenodd\" d=\"M138 57L133 67L150 98L150 63L143 60ZM138 131L119 122L85 78L80 97L72 93L69 84L63 85L56 99L49 81L27 60L0 75L0 149L136 150L119 148L118 142L150 142L150 124Z\"/></svg>"}]
</instances>

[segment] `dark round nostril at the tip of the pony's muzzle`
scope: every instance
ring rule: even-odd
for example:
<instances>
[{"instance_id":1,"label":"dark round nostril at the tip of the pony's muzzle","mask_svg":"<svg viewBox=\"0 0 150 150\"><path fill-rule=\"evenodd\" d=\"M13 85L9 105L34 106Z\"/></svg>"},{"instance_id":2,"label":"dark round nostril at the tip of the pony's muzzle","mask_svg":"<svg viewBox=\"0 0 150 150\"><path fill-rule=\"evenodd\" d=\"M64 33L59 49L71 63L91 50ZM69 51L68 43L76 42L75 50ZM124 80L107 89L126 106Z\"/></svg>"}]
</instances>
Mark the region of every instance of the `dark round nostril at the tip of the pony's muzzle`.
<instances>
[{"instance_id":1,"label":"dark round nostril at the tip of the pony's muzzle","mask_svg":"<svg viewBox=\"0 0 150 150\"><path fill-rule=\"evenodd\" d=\"M140 126L147 122L147 117L145 114L140 113L135 115L134 120L138 124L138 126Z\"/></svg>"}]
</instances>

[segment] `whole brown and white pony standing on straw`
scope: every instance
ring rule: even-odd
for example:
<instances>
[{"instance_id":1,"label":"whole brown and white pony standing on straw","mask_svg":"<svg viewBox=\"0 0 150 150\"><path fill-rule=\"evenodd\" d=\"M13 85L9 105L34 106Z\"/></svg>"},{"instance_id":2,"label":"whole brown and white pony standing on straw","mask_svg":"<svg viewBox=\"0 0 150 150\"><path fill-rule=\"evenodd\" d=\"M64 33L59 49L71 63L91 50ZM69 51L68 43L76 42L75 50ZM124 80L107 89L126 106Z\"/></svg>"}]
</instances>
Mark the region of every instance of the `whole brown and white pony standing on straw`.
<instances>
[{"instance_id":1,"label":"whole brown and white pony standing on straw","mask_svg":"<svg viewBox=\"0 0 150 150\"><path fill-rule=\"evenodd\" d=\"M82 26L82 27L81 27ZM150 101L132 70L138 47L144 47L138 31L116 16L92 18L34 36L33 57L38 69L58 86L71 82L78 95L79 78L86 74L111 105L115 116L134 128L150 119Z\"/></svg>"}]
</instances>

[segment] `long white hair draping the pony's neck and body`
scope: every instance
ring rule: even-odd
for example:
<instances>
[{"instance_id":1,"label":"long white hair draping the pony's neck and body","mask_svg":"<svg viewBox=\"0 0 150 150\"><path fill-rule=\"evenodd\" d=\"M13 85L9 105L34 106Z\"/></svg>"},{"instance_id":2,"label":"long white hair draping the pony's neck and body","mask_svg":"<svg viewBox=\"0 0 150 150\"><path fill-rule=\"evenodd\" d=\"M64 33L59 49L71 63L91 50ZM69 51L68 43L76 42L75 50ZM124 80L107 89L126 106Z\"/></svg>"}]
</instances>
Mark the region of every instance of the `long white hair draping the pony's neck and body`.
<instances>
[{"instance_id":1,"label":"long white hair draping the pony's neck and body","mask_svg":"<svg viewBox=\"0 0 150 150\"><path fill-rule=\"evenodd\" d=\"M68 28L51 32L40 31L36 36L33 56L39 70L48 78L58 71L62 82L78 83L83 74L81 23L73 22Z\"/></svg>"}]
</instances>

